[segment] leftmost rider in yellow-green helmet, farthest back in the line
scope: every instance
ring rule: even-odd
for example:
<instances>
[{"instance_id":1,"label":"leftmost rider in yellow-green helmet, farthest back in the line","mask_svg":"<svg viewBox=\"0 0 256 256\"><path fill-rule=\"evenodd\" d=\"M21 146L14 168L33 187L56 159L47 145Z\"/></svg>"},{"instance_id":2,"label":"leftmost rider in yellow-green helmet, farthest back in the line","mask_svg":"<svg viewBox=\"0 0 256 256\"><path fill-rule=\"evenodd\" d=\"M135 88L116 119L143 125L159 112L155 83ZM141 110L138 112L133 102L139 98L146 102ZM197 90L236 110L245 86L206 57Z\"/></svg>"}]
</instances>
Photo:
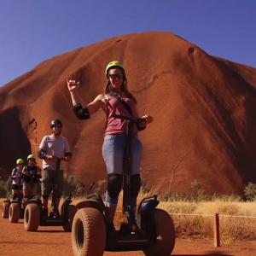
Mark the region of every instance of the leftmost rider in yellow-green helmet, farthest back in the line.
<instances>
[{"instance_id":1,"label":"leftmost rider in yellow-green helmet, farthest back in the line","mask_svg":"<svg viewBox=\"0 0 256 256\"><path fill-rule=\"evenodd\" d=\"M22 169L24 166L24 160L19 158L16 160L16 166L11 173L12 179L12 195L13 197L21 197L22 196Z\"/></svg>"}]
</instances>

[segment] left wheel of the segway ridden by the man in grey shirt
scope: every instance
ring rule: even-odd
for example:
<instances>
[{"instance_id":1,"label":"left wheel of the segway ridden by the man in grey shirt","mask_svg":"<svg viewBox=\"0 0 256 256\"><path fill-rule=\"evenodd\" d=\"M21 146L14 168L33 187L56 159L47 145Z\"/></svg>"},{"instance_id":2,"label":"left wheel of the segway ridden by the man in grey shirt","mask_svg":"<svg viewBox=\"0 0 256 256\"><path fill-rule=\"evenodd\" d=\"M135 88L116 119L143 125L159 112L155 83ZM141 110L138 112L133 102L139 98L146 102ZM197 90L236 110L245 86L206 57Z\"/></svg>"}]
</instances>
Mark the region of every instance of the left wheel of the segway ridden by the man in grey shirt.
<instances>
[{"instance_id":1,"label":"left wheel of the segway ridden by the man in grey shirt","mask_svg":"<svg viewBox=\"0 0 256 256\"><path fill-rule=\"evenodd\" d=\"M40 224L40 209L38 204L28 204L24 212L24 229L26 231L37 231Z\"/></svg>"}]
</instances>

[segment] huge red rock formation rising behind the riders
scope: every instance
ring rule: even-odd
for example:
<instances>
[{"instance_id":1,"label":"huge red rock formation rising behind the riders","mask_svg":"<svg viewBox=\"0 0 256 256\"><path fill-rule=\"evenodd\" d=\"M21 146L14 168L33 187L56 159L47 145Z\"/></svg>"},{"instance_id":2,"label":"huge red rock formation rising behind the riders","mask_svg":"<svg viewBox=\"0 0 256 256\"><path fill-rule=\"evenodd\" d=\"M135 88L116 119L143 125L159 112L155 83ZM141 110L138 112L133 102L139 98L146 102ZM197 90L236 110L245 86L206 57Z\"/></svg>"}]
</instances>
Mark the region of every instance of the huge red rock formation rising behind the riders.
<instances>
[{"instance_id":1,"label":"huge red rock formation rising behind the riders","mask_svg":"<svg viewBox=\"0 0 256 256\"><path fill-rule=\"evenodd\" d=\"M125 64L139 113L154 123L140 133L143 181L150 189L184 192L195 179L208 192L241 192L256 182L256 69L207 55L169 32L109 38L44 61L0 88L0 165L36 153L49 121L64 123L70 172L86 184L105 178L104 114L75 118L66 78L81 81L84 105L105 86L108 61ZM8 169L6 169L8 168Z\"/></svg>"}]
</instances>

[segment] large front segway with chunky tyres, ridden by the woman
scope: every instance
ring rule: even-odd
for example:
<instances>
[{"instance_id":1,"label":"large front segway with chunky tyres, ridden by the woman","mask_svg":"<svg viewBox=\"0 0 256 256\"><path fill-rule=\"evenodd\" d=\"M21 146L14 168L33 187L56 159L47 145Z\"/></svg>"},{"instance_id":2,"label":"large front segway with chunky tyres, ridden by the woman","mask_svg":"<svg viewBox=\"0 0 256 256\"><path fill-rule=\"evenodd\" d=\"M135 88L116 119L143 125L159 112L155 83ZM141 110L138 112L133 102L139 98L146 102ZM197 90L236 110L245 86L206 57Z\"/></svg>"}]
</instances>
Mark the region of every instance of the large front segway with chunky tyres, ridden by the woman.
<instances>
[{"instance_id":1,"label":"large front segway with chunky tyres, ridden by the woman","mask_svg":"<svg viewBox=\"0 0 256 256\"><path fill-rule=\"evenodd\" d=\"M106 208L100 195L90 195L77 208L73 218L72 247L75 256L102 256L104 251L143 250L148 256L167 256L175 245L175 230L170 215L156 208L157 195L144 198L137 209L137 218L128 204L130 199L131 134L133 125L143 119L114 115L127 119L127 144L123 174L123 213L127 218L119 230L109 230ZM136 225L137 229L132 227Z\"/></svg>"}]
</instances>

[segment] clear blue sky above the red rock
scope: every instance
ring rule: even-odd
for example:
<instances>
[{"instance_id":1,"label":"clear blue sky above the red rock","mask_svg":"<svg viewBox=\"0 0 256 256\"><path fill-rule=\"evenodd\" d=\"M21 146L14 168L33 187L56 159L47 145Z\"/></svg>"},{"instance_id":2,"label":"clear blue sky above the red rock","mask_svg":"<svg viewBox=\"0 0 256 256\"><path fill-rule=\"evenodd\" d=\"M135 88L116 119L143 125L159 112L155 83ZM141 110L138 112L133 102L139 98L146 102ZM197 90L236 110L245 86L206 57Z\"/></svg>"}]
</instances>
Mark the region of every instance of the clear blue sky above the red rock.
<instances>
[{"instance_id":1,"label":"clear blue sky above the red rock","mask_svg":"<svg viewBox=\"0 0 256 256\"><path fill-rule=\"evenodd\" d=\"M55 55L149 31L256 67L254 0L0 0L0 86Z\"/></svg>"}]
</instances>

